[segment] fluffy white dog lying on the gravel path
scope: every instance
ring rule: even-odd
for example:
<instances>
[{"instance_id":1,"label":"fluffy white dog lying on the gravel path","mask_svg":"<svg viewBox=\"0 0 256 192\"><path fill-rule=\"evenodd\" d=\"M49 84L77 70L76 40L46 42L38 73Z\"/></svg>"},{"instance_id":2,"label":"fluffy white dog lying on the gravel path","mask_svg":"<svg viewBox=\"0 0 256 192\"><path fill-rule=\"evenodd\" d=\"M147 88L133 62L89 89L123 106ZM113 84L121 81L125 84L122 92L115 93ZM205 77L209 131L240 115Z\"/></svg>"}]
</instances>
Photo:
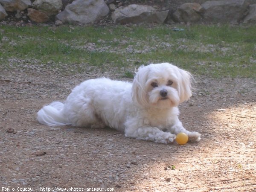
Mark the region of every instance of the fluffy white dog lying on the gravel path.
<instances>
[{"instance_id":1,"label":"fluffy white dog lying on the gravel path","mask_svg":"<svg viewBox=\"0 0 256 192\"><path fill-rule=\"evenodd\" d=\"M73 125L123 131L125 137L170 143L184 132L190 141L201 134L183 128L177 105L189 99L191 75L169 64L141 66L133 83L107 78L76 86L66 102L52 102L38 112L44 125Z\"/></svg>"}]
</instances>

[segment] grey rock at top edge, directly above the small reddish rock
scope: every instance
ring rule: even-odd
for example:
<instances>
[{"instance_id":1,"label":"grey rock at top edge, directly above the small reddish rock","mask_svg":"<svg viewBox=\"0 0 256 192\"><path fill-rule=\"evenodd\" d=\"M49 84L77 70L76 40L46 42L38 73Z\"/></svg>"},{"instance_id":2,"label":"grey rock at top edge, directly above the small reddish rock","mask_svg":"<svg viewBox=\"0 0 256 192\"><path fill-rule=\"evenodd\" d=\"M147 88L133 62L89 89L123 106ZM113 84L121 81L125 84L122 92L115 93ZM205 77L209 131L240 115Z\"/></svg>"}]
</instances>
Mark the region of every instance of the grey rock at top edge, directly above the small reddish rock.
<instances>
[{"instance_id":1,"label":"grey rock at top edge, directly above the small reddish rock","mask_svg":"<svg viewBox=\"0 0 256 192\"><path fill-rule=\"evenodd\" d=\"M57 15L62 8L62 0L35 0L32 6L45 12L48 16Z\"/></svg>"}]
</instances>

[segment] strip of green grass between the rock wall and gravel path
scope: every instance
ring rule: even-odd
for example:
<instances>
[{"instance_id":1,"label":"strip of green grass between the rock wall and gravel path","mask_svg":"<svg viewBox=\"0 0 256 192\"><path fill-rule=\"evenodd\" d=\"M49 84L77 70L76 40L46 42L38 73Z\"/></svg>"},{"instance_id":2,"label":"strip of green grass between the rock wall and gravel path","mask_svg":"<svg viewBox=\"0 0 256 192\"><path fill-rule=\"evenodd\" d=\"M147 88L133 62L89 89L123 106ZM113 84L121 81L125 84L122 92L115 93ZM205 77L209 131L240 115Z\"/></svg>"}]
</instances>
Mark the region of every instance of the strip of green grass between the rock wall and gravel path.
<instances>
[{"instance_id":1,"label":"strip of green grass between the rock wall and gravel path","mask_svg":"<svg viewBox=\"0 0 256 192\"><path fill-rule=\"evenodd\" d=\"M173 62L197 75L256 78L255 25L173 27L0 26L0 69L20 59L75 73L86 70L81 64L122 68L131 77L141 64Z\"/></svg>"}]
</instances>

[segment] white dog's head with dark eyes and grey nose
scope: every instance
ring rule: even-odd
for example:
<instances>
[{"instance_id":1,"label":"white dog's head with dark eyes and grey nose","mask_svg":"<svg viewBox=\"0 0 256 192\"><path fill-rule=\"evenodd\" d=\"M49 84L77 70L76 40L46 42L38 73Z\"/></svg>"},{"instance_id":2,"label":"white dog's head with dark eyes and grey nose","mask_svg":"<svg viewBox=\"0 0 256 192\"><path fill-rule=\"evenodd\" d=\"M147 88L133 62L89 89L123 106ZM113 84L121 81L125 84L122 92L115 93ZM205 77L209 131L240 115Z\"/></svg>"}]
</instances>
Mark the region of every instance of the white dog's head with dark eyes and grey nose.
<instances>
[{"instance_id":1,"label":"white dog's head with dark eyes and grey nose","mask_svg":"<svg viewBox=\"0 0 256 192\"><path fill-rule=\"evenodd\" d=\"M170 108L191 96L191 74L169 64L141 66L134 77L132 99L144 107Z\"/></svg>"}]
</instances>

